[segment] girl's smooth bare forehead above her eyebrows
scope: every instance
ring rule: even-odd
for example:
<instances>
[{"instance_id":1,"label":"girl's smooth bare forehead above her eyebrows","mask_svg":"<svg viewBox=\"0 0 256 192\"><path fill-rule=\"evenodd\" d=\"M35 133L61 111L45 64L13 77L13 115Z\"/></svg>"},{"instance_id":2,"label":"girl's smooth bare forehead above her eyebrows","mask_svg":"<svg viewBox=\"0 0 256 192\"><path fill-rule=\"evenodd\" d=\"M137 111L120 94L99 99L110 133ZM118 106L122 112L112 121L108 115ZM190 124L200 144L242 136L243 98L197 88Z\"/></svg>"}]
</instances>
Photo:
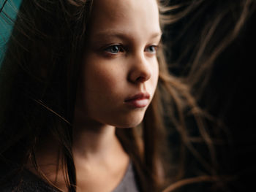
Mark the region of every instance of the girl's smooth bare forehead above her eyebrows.
<instances>
[{"instance_id":1,"label":"girl's smooth bare forehead above her eyebrows","mask_svg":"<svg viewBox=\"0 0 256 192\"><path fill-rule=\"evenodd\" d=\"M94 0L89 23L91 32L160 32L156 0Z\"/></svg>"}]
</instances>

